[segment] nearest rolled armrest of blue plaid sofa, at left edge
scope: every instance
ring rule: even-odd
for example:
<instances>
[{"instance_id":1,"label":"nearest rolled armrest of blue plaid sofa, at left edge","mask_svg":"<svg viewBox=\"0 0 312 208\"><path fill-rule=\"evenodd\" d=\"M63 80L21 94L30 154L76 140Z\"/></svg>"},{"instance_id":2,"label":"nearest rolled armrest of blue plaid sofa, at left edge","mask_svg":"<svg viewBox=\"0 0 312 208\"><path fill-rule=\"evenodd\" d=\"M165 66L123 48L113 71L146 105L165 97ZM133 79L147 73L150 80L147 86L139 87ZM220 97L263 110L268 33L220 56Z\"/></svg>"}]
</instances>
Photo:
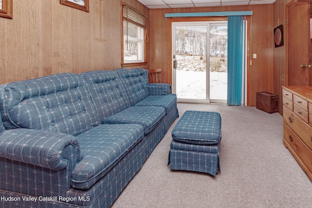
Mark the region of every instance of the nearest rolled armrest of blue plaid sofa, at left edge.
<instances>
[{"instance_id":1,"label":"nearest rolled armrest of blue plaid sofa, at left edge","mask_svg":"<svg viewBox=\"0 0 312 208\"><path fill-rule=\"evenodd\" d=\"M0 135L0 157L62 170L80 160L80 146L69 134L13 129Z\"/></svg>"}]
</instances>

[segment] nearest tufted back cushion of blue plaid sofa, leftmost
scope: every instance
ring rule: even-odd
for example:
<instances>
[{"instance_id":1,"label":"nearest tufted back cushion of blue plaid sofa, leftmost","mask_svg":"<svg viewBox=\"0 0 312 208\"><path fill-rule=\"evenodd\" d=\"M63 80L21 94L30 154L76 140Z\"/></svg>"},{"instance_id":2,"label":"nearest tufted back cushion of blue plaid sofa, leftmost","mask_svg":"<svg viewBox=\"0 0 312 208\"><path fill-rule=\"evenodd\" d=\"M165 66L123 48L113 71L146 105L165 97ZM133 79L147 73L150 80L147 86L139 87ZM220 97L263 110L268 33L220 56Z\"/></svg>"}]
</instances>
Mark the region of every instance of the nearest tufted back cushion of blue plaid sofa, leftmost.
<instances>
[{"instance_id":1,"label":"nearest tufted back cushion of blue plaid sofa, leftmost","mask_svg":"<svg viewBox=\"0 0 312 208\"><path fill-rule=\"evenodd\" d=\"M98 126L98 116L80 75L64 73L7 84L3 124L78 135Z\"/></svg>"}]
</instances>

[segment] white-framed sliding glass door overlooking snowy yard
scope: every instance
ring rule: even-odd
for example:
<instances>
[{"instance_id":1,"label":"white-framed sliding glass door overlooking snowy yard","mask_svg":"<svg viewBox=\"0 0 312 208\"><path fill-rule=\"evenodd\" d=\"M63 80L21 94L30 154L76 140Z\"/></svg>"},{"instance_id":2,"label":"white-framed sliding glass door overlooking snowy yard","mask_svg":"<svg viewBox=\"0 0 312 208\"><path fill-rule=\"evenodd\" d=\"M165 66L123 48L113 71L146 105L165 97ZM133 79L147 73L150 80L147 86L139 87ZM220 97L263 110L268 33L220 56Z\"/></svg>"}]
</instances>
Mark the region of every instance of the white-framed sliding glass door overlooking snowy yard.
<instances>
[{"instance_id":1,"label":"white-framed sliding glass door overlooking snowy yard","mask_svg":"<svg viewBox=\"0 0 312 208\"><path fill-rule=\"evenodd\" d=\"M226 102L227 23L172 23L173 93L182 102Z\"/></svg>"}]
</instances>

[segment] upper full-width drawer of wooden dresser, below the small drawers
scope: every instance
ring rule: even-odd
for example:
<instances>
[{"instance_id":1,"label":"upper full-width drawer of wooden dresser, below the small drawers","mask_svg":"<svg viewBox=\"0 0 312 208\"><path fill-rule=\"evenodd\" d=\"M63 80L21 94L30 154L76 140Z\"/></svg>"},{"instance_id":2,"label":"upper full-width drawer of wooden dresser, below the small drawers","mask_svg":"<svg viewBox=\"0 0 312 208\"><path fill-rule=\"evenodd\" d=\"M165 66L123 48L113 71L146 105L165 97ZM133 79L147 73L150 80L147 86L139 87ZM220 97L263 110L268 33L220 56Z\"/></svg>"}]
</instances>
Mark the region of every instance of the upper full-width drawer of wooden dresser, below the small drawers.
<instances>
[{"instance_id":1,"label":"upper full-width drawer of wooden dresser, below the small drawers","mask_svg":"<svg viewBox=\"0 0 312 208\"><path fill-rule=\"evenodd\" d=\"M312 127L285 106L283 106L283 119L292 131L312 149Z\"/></svg>"}]
</instances>

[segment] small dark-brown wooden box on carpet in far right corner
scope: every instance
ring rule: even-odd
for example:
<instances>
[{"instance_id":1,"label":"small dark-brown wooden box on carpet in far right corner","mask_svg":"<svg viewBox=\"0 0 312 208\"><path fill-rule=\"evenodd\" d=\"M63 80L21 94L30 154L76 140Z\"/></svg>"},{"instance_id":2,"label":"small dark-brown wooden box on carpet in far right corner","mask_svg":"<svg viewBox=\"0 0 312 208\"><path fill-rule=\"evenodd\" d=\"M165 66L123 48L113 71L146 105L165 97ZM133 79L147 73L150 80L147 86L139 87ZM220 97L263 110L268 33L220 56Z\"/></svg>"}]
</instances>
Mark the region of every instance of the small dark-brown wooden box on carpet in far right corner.
<instances>
[{"instance_id":1,"label":"small dark-brown wooden box on carpet in far right corner","mask_svg":"<svg viewBox=\"0 0 312 208\"><path fill-rule=\"evenodd\" d=\"M267 92L257 93L257 109L267 113L278 112L278 95Z\"/></svg>"}]
</instances>

